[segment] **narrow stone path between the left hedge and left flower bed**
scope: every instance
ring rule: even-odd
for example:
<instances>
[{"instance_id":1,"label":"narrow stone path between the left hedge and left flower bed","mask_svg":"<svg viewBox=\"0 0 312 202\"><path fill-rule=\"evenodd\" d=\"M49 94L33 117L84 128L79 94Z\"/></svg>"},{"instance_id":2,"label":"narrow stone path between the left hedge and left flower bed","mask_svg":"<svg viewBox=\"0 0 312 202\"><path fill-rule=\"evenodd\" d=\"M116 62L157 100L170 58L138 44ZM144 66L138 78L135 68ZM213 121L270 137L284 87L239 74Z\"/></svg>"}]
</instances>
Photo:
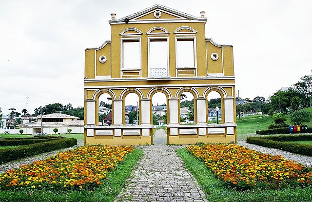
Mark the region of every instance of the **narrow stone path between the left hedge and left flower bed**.
<instances>
[{"instance_id":1,"label":"narrow stone path between the left hedge and left flower bed","mask_svg":"<svg viewBox=\"0 0 312 202\"><path fill-rule=\"evenodd\" d=\"M45 153L38 154L35 156L26 157L24 159L19 159L19 160L13 161L13 162L6 162L3 164L0 164L0 173L4 173L4 172L11 170L11 169L17 169L20 167L20 165L30 164L30 163L35 162L35 161L44 160L48 157L55 156L59 152L63 152L66 150L71 150L71 149L76 149L79 146L82 146L83 144L84 144L83 142L78 142L77 145L72 146L72 147L59 149L59 150L55 150L55 151L51 151L51 152L45 152Z\"/></svg>"}]
</instances>

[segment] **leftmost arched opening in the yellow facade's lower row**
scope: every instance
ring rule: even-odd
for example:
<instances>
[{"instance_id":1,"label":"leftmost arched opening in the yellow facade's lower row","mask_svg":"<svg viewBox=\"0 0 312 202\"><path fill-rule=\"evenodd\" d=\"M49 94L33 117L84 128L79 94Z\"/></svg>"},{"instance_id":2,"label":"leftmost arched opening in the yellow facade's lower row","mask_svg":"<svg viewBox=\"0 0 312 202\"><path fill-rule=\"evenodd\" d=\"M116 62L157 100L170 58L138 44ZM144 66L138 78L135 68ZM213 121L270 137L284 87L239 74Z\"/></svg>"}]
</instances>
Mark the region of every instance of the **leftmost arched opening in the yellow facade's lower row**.
<instances>
[{"instance_id":1,"label":"leftmost arched opening in the yellow facade's lower row","mask_svg":"<svg viewBox=\"0 0 312 202\"><path fill-rule=\"evenodd\" d=\"M98 97L98 125L112 125L112 96L103 93Z\"/></svg>"}]
</instances>

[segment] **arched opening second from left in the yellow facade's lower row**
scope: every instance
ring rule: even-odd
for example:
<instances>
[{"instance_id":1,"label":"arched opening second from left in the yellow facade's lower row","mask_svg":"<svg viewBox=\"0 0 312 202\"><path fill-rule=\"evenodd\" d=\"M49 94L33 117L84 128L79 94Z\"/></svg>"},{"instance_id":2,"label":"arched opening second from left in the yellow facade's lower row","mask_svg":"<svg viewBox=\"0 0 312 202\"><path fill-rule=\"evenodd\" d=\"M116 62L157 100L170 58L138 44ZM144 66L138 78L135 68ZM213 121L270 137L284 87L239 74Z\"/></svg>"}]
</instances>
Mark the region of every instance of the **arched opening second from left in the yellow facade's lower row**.
<instances>
[{"instance_id":1,"label":"arched opening second from left in the yellow facade's lower row","mask_svg":"<svg viewBox=\"0 0 312 202\"><path fill-rule=\"evenodd\" d=\"M139 125L139 97L136 93L128 93L125 97L124 114L125 125Z\"/></svg>"}]
</instances>

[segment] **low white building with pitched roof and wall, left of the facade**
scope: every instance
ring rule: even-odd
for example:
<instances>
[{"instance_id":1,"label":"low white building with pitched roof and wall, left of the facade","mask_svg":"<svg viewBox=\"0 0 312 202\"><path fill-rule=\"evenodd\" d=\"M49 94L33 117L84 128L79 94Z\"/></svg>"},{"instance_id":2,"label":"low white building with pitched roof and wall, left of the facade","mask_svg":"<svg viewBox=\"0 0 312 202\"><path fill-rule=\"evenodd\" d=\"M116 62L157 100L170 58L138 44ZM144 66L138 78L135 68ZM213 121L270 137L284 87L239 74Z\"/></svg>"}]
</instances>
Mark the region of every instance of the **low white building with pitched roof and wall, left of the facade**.
<instances>
[{"instance_id":1,"label":"low white building with pitched roof and wall, left of the facade","mask_svg":"<svg viewBox=\"0 0 312 202\"><path fill-rule=\"evenodd\" d=\"M36 134L41 130L41 116L37 117L38 121L25 123L21 129L24 130L24 134ZM83 133L84 121L78 120L78 117L74 117L67 114L54 113L42 116L42 132L53 134L53 129L57 128L58 133L68 133L67 129L72 129L72 133Z\"/></svg>"}]
</instances>

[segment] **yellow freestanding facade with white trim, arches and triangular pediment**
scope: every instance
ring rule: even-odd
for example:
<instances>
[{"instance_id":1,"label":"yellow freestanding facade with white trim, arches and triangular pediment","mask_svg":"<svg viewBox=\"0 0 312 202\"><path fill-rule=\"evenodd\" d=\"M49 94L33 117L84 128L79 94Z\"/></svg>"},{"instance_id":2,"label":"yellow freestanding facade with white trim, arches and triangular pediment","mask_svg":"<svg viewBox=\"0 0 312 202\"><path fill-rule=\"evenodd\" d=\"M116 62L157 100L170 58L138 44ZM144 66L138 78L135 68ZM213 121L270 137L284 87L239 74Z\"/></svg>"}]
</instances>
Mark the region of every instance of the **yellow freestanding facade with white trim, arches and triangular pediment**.
<instances>
[{"instance_id":1,"label":"yellow freestanding facade with white trim, arches and triangular pediment","mask_svg":"<svg viewBox=\"0 0 312 202\"><path fill-rule=\"evenodd\" d=\"M236 142L233 46L205 38L207 18L159 4L116 19L111 40L85 50L86 144L152 144L152 98L167 97L167 143ZM158 59L157 59L158 58ZM221 124L208 123L207 96L221 97ZM179 98L194 95L193 125L180 124ZM112 125L98 123L98 99L112 98ZM139 124L125 124L125 97L139 97Z\"/></svg>"}]
</instances>

